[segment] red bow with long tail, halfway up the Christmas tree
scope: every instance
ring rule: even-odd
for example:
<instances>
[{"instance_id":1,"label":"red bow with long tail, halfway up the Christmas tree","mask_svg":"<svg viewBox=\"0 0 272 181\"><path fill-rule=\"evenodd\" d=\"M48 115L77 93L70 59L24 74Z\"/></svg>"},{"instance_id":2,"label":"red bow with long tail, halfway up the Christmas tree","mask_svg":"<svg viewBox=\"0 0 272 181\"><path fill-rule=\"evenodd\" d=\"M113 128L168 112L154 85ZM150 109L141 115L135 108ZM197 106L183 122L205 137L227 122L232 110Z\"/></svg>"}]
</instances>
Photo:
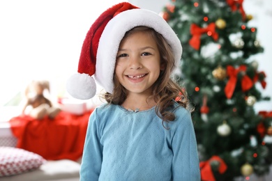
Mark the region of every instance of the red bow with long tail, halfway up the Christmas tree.
<instances>
[{"instance_id":1,"label":"red bow with long tail, halfway up the Christmas tree","mask_svg":"<svg viewBox=\"0 0 272 181\"><path fill-rule=\"evenodd\" d=\"M234 93L234 89L236 87L236 82L237 82L237 74L239 72L245 72L246 66L241 65L239 68L235 69L232 67L232 65L227 66L227 75L229 76L229 81L227 82L227 85L225 86L225 95L228 99L232 98L232 95ZM242 91L248 91L252 86L253 82L248 77L248 75L244 74L241 80L241 86L242 86Z\"/></svg>"}]
</instances>

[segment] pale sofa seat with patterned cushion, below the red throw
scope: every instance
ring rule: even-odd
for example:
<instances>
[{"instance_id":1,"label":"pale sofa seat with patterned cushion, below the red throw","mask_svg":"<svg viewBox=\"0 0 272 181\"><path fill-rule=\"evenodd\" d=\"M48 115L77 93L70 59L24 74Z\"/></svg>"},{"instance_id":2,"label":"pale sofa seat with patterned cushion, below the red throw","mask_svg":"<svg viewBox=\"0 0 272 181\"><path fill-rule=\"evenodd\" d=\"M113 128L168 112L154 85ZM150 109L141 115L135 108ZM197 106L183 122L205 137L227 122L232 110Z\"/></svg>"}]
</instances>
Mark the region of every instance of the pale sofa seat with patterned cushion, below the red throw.
<instances>
[{"instance_id":1,"label":"pale sofa seat with patterned cushion, below the red throw","mask_svg":"<svg viewBox=\"0 0 272 181\"><path fill-rule=\"evenodd\" d=\"M47 160L34 152L15 148L15 143L12 135L0 137L1 181L80 180L80 159Z\"/></svg>"}]
</instances>

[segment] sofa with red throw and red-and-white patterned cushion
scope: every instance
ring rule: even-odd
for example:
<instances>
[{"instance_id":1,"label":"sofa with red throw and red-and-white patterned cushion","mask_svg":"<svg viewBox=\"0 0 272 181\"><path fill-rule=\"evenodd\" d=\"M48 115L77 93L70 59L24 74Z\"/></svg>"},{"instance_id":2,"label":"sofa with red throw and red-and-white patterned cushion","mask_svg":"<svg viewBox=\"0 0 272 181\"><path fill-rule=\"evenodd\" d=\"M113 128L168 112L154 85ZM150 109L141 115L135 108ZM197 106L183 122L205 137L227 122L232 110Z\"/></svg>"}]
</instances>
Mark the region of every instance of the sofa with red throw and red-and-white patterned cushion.
<instances>
[{"instance_id":1,"label":"sofa with red throw and red-and-white patterned cushion","mask_svg":"<svg viewBox=\"0 0 272 181\"><path fill-rule=\"evenodd\" d=\"M80 180L84 136L91 111L65 111L56 120L15 116L0 124L0 180Z\"/></svg>"}]
</instances>

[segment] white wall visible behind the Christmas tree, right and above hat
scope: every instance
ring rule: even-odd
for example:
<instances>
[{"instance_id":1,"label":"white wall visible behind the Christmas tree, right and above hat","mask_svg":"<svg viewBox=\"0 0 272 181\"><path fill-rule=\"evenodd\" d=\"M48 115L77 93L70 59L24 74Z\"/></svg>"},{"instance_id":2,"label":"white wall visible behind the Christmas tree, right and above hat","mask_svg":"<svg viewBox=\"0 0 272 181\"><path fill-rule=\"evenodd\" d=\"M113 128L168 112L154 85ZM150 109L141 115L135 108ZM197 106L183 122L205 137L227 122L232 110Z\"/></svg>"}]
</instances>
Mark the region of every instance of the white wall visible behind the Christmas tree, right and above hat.
<instances>
[{"instance_id":1,"label":"white wall visible behind the Christmas tree, right and above hat","mask_svg":"<svg viewBox=\"0 0 272 181\"><path fill-rule=\"evenodd\" d=\"M169 3L170 0L128 0L128 2L140 8L160 13L163 6ZM259 71L266 72L266 88L263 89L259 83L257 83L257 88L262 91L262 95L267 95L272 99L272 1L244 0L243 8L245 13L253 16L253 19L249 22L249 26L257 27L257 37L264 47L264 53L250 57L259 63ZM255 109L256 111L272 111L272 101L258 102L255 104Z\"/></svg>"}]
</instances>

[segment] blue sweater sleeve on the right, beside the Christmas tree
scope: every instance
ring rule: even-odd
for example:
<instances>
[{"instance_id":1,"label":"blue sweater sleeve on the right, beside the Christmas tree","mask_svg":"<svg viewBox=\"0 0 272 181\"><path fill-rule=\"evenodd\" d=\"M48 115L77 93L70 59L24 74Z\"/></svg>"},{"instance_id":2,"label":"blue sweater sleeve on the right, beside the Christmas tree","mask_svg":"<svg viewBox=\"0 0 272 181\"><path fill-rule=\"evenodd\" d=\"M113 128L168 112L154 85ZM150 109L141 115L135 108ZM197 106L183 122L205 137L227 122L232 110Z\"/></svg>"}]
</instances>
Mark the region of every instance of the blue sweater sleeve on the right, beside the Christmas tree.
<instances>
[{"instance_id":1,"label":"blue sweater sleeve on the right, beside the Christmas tree","mask_svg":"<svg viewBox=\"0 0 272 181\"><path fill-rule=\"evenodd\" d=\"M200 180L197 141L192 119L188 111L177 117L176 129L172 132L172 180Z\"/></svg>"}]
</instances>

